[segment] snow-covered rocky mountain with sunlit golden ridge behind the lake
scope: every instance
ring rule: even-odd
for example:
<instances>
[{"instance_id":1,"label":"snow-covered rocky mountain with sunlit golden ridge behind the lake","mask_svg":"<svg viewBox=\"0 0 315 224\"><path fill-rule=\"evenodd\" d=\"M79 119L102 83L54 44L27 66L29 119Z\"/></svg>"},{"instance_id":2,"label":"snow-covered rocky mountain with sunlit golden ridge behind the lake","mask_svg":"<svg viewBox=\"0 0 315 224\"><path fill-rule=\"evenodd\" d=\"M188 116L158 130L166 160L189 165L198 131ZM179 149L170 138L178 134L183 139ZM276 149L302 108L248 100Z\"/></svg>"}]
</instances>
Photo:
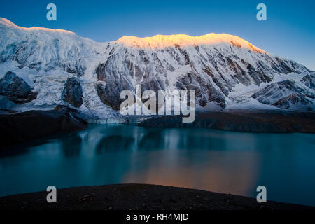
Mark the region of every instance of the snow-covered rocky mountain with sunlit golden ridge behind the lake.
<instances>
[{"instance_id":1,"label":"snow-covered rocky mountain with sunlit golden ridge behind the lake","mask_svg":"<svg viewBox=\"0 0 315 224\"><path fill-rule=\"evenodd\" d=\"M228 34L123 36L97 43L71 31L24 28L0 18L0 78L8 71L36 92L18 110L78 108L118 117L120 92L195 90L198 110L314 111L315 73Z\"/></svg>"}]
</instances>

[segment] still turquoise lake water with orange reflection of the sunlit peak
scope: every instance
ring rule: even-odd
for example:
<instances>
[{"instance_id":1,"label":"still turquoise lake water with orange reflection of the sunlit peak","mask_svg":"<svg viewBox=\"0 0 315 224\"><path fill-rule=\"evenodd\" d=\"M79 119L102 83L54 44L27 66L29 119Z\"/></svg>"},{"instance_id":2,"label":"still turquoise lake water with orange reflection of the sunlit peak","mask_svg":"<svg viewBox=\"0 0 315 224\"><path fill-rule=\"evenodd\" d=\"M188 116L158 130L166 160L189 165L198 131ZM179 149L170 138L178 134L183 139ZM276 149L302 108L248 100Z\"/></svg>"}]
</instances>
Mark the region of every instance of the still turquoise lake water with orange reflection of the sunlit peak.
<instances>
[{"instance_id":1,"label":"still turquoise lake water with orange reflection of the sunlit peak","mask_svg":"<svg viewBox=\"0 0 315 224\"><path fill-rule=\"evenodd\" d=\"M0 196L153 183L315 206L315 134L90 125L0 155Z\"/></svg>"}]
</instances>

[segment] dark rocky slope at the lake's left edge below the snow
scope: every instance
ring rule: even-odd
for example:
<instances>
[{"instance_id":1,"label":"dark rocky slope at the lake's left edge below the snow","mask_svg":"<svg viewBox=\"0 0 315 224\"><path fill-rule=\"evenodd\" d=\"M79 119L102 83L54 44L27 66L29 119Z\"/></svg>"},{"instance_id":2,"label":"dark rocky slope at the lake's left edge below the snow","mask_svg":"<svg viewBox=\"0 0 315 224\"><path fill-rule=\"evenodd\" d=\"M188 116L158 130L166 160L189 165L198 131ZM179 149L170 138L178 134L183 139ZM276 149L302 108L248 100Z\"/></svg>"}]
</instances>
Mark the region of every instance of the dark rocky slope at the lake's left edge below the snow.
<instances>
[{"instance_id":1,"label":"dark rocky slope at the lake's left edge below the snow","mask_svg":"<svg viewBox=\"0 0 315 224\"><path fill-rule=\"evenodd\" d=\"M75 109L57 106L52 111L0 114L1 148L86 127Z\"/></svg>"}]
</instances>

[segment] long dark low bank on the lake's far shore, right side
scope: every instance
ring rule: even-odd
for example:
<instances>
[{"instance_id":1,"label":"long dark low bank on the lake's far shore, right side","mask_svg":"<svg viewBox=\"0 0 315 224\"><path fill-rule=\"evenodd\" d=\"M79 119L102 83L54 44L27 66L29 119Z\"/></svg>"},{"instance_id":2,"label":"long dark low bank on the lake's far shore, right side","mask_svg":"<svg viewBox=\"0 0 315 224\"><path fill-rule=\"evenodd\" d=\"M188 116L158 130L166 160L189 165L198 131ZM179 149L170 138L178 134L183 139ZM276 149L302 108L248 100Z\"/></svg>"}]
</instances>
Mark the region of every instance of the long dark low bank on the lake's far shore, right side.
<instances>
[{"instance_id":1,"label":"long dark low bank on the lake's far shore, right side","mask_svg":"<svg viewBox=\"0 0 315 224\"><path fill-rule=\"evenodd\" d=\"M182 123L181 116L148 118L141 127L207 127L235 132L315 133L314 112L227 111L196 115L194 123Z\"/></svg>"}]
</instances>

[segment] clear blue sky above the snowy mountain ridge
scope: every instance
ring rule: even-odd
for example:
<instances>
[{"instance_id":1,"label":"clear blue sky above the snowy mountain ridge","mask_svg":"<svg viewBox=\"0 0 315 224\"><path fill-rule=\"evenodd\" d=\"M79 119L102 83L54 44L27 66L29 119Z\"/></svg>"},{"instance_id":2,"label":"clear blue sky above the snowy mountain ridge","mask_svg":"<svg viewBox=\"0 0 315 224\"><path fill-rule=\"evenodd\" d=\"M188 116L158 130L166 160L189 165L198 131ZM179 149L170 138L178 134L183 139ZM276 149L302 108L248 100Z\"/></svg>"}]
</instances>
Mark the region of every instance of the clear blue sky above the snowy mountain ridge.
<instances>
[{"instance_id":1,"label":"clear blue sky above the snowy mountain ridge","mask_svg":"<svg viewBox=\"0 0 315 224\"><path fill-rule=\"evenodd\" d=\"M48 3L57 6L55 22L46 20ZM258 3L267 6L267 21L256 20ZM1 0L0 4L0 17L16 25L67 29L94 41L124 35L233 34L315 70L315 0Z\"/></svg>"}]
</instances>

